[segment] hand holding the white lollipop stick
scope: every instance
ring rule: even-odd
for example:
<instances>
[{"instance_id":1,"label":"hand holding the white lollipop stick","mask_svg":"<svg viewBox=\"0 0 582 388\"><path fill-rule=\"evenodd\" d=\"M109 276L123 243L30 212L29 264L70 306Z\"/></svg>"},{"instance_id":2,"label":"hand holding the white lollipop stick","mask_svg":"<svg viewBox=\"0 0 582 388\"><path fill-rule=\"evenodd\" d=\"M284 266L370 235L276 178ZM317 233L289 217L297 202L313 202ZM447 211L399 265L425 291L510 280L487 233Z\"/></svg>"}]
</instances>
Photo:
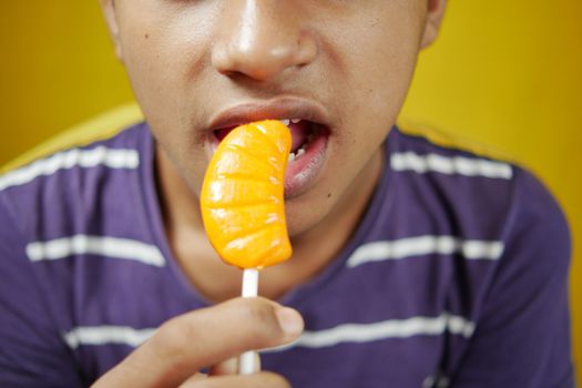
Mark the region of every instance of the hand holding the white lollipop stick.
<instances>
[{"instance_id":1,"label":"hand holding the white lollipop stick","mask_svg":"<svg viewBox=\"0 0 582 388\"><path fill-rule=\"evenodd\" d=\"M297 312L264 298L236 298L170 319L93 387L289 387L270 372L228 376L228 360L288 344L302 331ZM210 376L198 372L212 366Z\"/></svg>"}]
</instances>

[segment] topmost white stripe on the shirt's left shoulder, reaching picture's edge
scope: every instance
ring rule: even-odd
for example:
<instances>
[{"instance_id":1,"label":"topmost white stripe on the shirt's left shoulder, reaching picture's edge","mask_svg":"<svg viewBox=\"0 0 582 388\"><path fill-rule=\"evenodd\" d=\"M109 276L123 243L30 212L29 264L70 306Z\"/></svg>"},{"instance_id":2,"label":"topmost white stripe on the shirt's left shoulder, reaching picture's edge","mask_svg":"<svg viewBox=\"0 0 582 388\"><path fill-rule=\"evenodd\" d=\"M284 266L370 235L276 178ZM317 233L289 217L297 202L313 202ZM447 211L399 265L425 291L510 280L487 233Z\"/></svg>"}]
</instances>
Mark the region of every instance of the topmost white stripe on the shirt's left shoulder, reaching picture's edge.
<instances>
[{"instance_id":1,"label":"topmost white stripe on the shirt's left shoulder, reaching picture's edge","mask_svg":"<svg viewBox=\"0 0 582 388\"><path fill-rule=\"evenodd\" d=\"M98 146L92 150L73 149L41 159L0 177L0 191L32 182L39 176L52 175L59 170L104 165L110 169L136 169L140 155L136 150L113 150Z\"/></svg>"}]
</instances>

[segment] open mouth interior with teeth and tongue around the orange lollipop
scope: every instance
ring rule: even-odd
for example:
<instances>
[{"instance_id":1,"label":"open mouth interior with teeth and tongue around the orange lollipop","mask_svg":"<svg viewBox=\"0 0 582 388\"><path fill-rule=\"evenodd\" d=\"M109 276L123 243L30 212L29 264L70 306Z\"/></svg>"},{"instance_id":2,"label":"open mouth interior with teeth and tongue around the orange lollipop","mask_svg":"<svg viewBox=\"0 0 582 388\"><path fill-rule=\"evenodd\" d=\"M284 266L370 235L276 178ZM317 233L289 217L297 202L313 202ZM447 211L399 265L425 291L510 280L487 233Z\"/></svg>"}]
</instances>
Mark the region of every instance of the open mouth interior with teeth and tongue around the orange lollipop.
<instances>
[{"instance_id":1,"label":"open mouth interior with teeth and tongue around the orange lollipop","mask_svg":"<svg viewBox=\"0 0 582 388\"><path fill-rule=\"evenodd\" d=\"M278 119L292 133L292 147L285 171L285 196L304 192L315 178L326 156L329 129L305 119ZM215 146L238 125L214 130Z\"/></svg>"}]
</instances>

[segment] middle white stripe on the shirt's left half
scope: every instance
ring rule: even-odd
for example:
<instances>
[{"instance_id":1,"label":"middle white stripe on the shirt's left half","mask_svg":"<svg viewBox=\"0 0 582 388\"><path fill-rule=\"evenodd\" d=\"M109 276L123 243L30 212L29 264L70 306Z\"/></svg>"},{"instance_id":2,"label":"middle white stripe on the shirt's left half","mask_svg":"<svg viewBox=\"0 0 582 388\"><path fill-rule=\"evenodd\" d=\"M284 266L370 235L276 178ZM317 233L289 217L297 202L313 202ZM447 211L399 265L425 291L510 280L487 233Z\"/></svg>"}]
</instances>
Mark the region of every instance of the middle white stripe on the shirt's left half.
<instances>
[{"instance_id":1,"label":"middle white stripe on the shirt's left half","mask_svg":"<svg viewBox=\"0 0 582 388\"><path fill-rule=\"evenodd\" d=\"M27 245L27 255L31 262L54 261L84 254L137 261L157 267L165 265L164 256L155 245L135 239L76 235Z\"/></svg>"}]
</instances>

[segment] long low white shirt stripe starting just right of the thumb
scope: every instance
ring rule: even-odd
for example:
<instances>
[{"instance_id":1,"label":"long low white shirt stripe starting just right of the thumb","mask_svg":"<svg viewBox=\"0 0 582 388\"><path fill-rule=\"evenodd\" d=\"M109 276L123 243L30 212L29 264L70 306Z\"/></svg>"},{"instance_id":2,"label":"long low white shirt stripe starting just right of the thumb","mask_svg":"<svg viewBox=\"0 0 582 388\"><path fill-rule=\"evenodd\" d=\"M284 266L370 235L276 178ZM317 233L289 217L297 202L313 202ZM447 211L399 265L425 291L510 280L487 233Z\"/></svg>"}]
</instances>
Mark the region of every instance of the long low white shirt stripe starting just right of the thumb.
<instances>
[{"instance_id":1,"label":"long low white shirt stripe starting just right of the thumb","mask_svg":"<svg viewBox=\"0 0 582 388\"><path fill-rule=\"evenodd\" d=\"M280 351L294 347L323 348L344 343L371 343L413 336L440 336L445 331L470 338L474 331L474 324L463 317L448 313L438 317L389 319L374 324L347 324L326 330L305 331L295 343L262 351Z\"/></svg>"}]
</instances>

